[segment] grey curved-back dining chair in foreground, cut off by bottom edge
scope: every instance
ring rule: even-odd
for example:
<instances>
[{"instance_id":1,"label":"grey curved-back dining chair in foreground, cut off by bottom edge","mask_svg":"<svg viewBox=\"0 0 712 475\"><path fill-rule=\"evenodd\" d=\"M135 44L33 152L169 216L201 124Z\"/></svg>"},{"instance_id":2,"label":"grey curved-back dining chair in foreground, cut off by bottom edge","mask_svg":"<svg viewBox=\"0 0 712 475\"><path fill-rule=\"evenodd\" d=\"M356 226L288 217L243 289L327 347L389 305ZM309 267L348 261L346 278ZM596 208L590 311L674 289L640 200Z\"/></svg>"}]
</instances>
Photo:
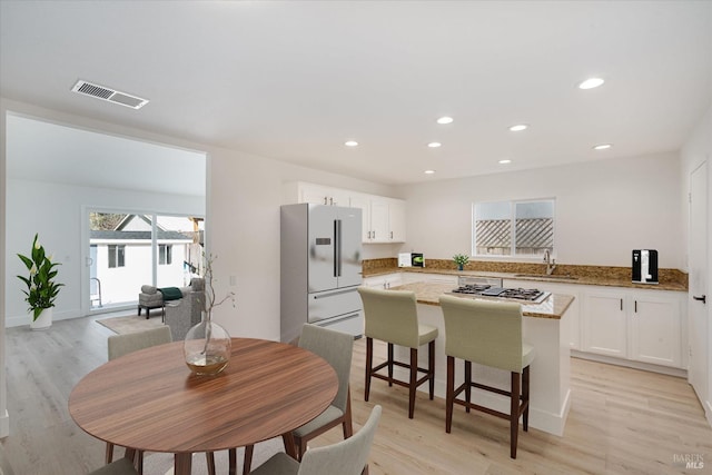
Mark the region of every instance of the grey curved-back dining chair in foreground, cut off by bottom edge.
<instances>
[{"instance_id":1,"label":"grey curved-back dining chair in foreground, cut off by bottom edge","mask_svg":"<svg viewBox=\"0 0 712 475\"><path fill-rule=\"evenodd\" d=\"M257 467L254 475L358 475L368 474L368 454L380 419L376 405L366 424L353 436L325 447L309 448L301 462L280 452Z\"/></svg>"}]
</instances>

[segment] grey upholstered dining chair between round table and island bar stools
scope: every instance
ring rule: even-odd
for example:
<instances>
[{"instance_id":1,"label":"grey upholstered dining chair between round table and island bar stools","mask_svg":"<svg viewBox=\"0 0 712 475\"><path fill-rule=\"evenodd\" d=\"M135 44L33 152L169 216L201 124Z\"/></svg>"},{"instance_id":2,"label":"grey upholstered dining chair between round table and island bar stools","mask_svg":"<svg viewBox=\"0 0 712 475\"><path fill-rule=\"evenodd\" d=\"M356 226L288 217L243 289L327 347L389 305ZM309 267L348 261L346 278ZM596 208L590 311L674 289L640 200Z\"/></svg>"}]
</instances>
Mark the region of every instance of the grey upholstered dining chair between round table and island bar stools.
<instances>
[{"instance_id":1,"label":"grey upholstered dining chair between round table and island bar stools","mask_svg":"<svg viewBox=\"0 0 712 475\"><path fill-rule=\"evenodd\" d=\"M305 324L301 327L301 336L299 337L299 347L326 359L336 372L338 378L338 393L329 407L308 424L293 431L294 439L297 445L297 459L307 449L307 442L317 437L325 432L342 426L344 438L348 438L354 434L352 423L352 398L349 392L349 378L352 374L352 355L354 353L354 337L343 331L319 327L312 324ZM235 449L233 449L235 451ZM249 473L251 465L254 446L245 447L244 474ZM230 454L230 462L236 456ZM235 473L235 467L230 467Z\"/></svg>"}]
</instances>

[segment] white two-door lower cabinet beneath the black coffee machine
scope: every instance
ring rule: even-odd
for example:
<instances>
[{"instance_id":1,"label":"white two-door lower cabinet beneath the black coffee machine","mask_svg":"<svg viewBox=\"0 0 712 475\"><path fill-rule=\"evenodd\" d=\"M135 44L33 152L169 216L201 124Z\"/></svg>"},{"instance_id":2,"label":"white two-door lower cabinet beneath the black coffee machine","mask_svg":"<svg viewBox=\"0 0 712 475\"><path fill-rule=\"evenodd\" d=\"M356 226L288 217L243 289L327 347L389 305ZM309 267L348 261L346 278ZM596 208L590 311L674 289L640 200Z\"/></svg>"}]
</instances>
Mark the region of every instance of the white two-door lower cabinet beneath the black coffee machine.
<instances>
[{"instance_id":1,"label":"white two-door lower cabinet beneath the black coffee machine","mask_svg":"<svg viewBox=\"0 0 712 475\"><path fill-rule=\"evenodd\" d=\"M684 367L684 293L589 287L583 352Z\"/></svg>"}]
</instances>

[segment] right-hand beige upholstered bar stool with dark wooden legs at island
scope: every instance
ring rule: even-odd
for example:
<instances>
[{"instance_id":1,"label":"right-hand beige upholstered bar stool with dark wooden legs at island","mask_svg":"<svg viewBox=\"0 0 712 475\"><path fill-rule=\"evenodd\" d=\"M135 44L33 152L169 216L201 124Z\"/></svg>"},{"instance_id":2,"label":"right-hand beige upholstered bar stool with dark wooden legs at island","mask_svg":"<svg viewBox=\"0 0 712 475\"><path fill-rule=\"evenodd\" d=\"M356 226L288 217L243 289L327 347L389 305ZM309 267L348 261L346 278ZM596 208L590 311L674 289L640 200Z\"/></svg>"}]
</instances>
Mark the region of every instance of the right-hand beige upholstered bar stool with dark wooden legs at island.
<instances>
[{"instance_id":1,"label":"right-hand beige upholstered bar stool with dark wooden legs at island","mask_svg":"<svg viewBox=\"0 0 712 475\"><path fill-rule=\"evenodd\" d=\"M453 425L453 406L510 419L510 457L516 458L520 417L528 431L530 365L534 347L522 339L522 306L513 303L485 301L443 295L439 298L445 320L445 354L447 387L445 432ZM455 358L465 362L464 383L455 388ZM476 363L510 372L511 389L487 386L472 380L472 364ZM510 397L510 413L472 403L472 388ZM465 399L457 396L465 392Z\"/></svg>"}]
</instances>

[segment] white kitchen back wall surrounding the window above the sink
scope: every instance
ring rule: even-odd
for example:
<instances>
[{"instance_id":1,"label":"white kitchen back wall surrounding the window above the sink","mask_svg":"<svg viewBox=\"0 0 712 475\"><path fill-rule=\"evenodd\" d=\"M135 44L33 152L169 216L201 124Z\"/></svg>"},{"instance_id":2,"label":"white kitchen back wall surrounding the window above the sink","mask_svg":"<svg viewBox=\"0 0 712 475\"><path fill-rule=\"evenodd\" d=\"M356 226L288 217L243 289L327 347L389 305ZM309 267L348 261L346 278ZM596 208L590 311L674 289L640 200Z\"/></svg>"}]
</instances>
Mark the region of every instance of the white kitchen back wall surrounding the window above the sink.
<instances>
[{"instance_id":1,"label":"white kitchen back wall surrounding the window above the sink","mask_svg":"<svg viewBox=\"0 0 712 475\"><path fill-rule=\"evenodd\" d=\"M556 198L560 264L630 266L631 250L657 249L660 266L683 268L680 159L663 154L503 172L402 188L404 246L449 259L472 248L472 204Z\"/></svg>"}]
</instances>

